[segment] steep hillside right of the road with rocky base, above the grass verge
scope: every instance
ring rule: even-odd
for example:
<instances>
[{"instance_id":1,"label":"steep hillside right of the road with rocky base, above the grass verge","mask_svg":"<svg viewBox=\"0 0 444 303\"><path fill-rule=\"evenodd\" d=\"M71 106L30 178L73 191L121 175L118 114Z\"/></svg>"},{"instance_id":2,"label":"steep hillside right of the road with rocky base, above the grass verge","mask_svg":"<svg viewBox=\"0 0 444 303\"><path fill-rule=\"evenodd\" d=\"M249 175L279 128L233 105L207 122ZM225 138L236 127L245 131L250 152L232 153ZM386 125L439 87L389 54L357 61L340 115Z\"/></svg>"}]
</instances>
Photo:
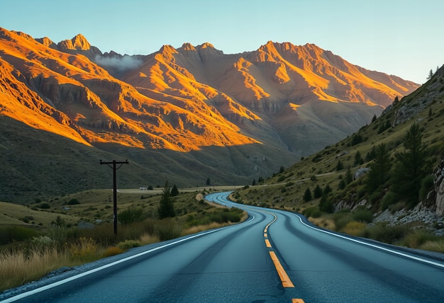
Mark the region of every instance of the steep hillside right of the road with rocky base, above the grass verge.
<instances>
[{"instance_id":1,"label":"steep hillside right of the road with rocky base, above the grass verge","mask_svg":"<svg viewBox=\"0 0 444 303\"><path fill-rule=\"evenodd\" d=\"M322 210L324 215L326 212L340 213L340 215L335 214L336 217L326 215L334 220L350 211L367 210L370 212L370 217L374 217L375 220L379 218L379 222L384 220L389 221L389 224L420 222L416 228L424 224L427 229L433 231L438 229L438 234L443 235L443 115L444 66L414 93L396 99L369 125L277 173L263 181L259 187L241 191L238 198L241 198L245 204L255 205L256 201L260 200L262 205L266 206L279 203L279 207L287 209L295 210L297 207L299 212L304 212L306 209L313 211L314 207L318 208L318 211ZM413 156L403 159L409 160L406 161L407 168L404 173L422 175L418 182L411 185L416 191L399 187L400 176L396 174L400 169L399 154L414 149L412 144L406 144L412 126L418 127L416 138L421 138L421 144L416 144L418 150L416 155L421 152L421 156L417 159ZM375 151L379 152L382 144L385 145L387 157L379 159L384 159L386 162L379 161L379 166L374 166L377 161ZM424 147L423 151L418 148L420 146ZM421 164L421 169L414 170L415 163ZM376 185L369 183L368 179L371 178L369 172L372 169L382 171L382 168L385 178L377 179L379 183ZM347 180L349 172L350 179ZM324 190L327 185L329 191L324 193L321 191L317 197L312 196L313 199L304 202L304 191L307 188L313 193L316 187ZM408 194L404 194L403 190ZM415 192L416 196L411 195ZM431 212L434 215L431 215ZM311 216L308 212L307 215ZM316 212L316 215L321 215L321 212ZM351 219L351 215L346 219Z\"/></svg>"}]
</instances>

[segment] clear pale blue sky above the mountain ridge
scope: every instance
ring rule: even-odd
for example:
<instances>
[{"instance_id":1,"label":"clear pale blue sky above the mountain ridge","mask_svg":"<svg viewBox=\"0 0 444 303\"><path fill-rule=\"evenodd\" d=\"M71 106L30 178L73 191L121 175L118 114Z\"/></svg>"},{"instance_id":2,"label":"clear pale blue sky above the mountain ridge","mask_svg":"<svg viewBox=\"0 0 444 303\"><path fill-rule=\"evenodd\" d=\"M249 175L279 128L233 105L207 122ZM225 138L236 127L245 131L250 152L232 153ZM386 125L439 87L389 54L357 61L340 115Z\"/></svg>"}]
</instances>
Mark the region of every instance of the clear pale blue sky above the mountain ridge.
<instances>
[{"instance_id":1,"label":"clear pale blue sky above the mountain ridge","mask_svg":"<svg viewBox=\"0 0 444 303\"><path fill-rule=\"evenodd\" d=\"M82 33L122 55L184 42L225 54L314 43L422 84L444 64L443 12L442 0L0 0L0 27L56 43Z\"/></svg>"}]
</instances>

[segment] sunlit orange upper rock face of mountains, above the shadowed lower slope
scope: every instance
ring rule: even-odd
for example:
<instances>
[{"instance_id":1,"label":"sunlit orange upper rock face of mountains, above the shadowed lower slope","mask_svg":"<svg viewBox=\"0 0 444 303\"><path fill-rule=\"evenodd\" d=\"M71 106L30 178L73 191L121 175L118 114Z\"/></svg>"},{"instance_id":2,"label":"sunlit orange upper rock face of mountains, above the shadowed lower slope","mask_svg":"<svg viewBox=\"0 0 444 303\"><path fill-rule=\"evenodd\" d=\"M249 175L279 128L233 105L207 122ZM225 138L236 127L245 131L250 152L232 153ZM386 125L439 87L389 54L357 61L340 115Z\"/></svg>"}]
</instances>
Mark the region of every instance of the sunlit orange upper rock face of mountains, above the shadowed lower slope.
<instances>
[{"instance_id":1,"label":"sunlit orange upper rock face of mountains, above the shadowed lower slope","mask_svg":"<svg viewBox=\"0 0 444 303\"><path fill-rule=\"evenodd\" d=\"M316 45L267 42L224 55L210 43L102 54L0 29L0 116L76 142L201 150L251 144L294 159L350 135L418 84Z\"/></svg>"}]
</instances>

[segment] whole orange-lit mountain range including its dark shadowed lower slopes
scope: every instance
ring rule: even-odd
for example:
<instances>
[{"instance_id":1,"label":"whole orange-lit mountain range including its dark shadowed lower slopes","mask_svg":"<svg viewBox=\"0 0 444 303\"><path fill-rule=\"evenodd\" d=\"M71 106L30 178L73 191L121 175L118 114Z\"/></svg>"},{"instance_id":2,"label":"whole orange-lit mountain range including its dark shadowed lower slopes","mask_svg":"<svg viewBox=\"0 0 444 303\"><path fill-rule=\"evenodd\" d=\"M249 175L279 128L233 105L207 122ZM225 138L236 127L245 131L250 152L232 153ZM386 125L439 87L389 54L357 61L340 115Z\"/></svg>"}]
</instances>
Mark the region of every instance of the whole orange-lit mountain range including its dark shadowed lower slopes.
<instances>
[{"instance_id":1,"label":"whole orange-lit mountain range including its dark shadowed lower slopes","mask_svg":"<svg viewBox=\"0 0 444 303\"><path fill-rule=\"evenodd\" d=\"M0 28L1 200L109 186L99 159L128 159L121 186L250 183L370 122L418 84L316 45L210 43L102 53Z\"/></svg>"}]
</instances>

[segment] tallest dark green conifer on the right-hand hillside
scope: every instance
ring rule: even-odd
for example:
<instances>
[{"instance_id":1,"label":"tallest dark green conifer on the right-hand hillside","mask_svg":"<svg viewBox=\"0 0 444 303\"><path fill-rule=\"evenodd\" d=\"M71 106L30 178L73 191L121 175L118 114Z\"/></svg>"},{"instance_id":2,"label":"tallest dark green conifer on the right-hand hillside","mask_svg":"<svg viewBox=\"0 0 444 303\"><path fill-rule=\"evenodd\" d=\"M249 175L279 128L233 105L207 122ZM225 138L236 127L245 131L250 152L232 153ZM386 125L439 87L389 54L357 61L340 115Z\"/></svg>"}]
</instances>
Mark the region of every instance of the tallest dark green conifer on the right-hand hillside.
<instances>
[{"instance_id":1,"label":"tallest dark green conifer on the right-hand hillside","mask_svg":"<svg viewBox=\"0 0 444 303\"><path fill-rule=\"evenodd\" d=\"M426 176L426 147L422 143L419 125L411 125L404 139L404 152L397 153L394 173L394 191L409 202L418 203L421 181Z\"/></svg>"}]
</instances>

